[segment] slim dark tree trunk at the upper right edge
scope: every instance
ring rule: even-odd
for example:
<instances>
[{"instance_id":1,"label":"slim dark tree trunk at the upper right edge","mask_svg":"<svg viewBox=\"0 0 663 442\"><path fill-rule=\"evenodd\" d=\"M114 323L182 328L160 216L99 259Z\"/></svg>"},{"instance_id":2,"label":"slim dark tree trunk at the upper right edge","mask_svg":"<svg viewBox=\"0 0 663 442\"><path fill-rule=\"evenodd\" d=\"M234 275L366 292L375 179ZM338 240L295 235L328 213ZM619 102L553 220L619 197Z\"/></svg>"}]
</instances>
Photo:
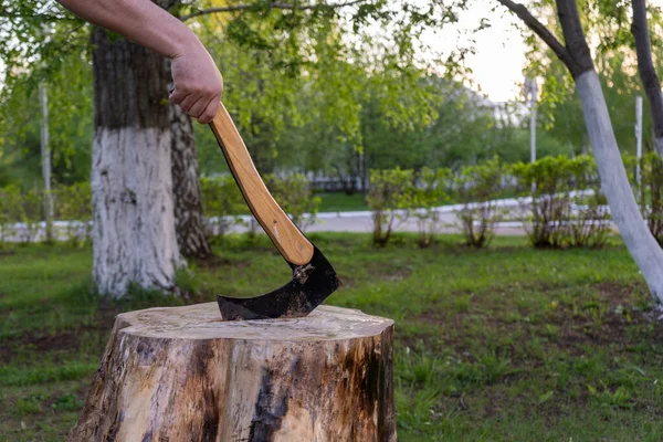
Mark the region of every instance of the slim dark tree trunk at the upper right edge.
<instances>
[{"instance_id":1,"label":"slim dark tree trunk at the upper right edge","mask_svg":"<svg viewBox=\"0 0 663 442\"><path fill-rule=\"evenodd\" d=\"M661 94L661 81L656 75L652 60L652 44L650 41L649 25L646 20L646 6L644 0L632 0L633 23L631 32L635 38L635 52L638 54L638 72L644 86L644 92L650 104L652 125L654 127L654 146L663 157L663 94Z\"/></svg>"}]
</instances>

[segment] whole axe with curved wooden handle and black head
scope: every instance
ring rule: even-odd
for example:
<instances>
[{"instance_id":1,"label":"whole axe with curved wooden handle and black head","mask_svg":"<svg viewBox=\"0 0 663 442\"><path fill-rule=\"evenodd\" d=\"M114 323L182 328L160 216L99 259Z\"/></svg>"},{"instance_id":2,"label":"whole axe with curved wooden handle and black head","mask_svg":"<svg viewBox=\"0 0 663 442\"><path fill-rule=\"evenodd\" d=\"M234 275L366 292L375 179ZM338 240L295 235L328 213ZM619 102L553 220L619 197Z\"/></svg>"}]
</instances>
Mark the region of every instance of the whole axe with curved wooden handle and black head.
<instances>
[{"instance_id":1,"label":"whole axe with curved wooden handle and black head","mask_svg":"<svg viewBox=\"0 0 663 442\"><path fill-rule=\"evenodd\" d=\"M223 103L210 127L251 213L293 271L290 283L261 296L234 298L219 295L222 319L269 319L308 315L340 287L340 280L323 252L308 241L267 190Z\"/></svg>"}]
</instances>

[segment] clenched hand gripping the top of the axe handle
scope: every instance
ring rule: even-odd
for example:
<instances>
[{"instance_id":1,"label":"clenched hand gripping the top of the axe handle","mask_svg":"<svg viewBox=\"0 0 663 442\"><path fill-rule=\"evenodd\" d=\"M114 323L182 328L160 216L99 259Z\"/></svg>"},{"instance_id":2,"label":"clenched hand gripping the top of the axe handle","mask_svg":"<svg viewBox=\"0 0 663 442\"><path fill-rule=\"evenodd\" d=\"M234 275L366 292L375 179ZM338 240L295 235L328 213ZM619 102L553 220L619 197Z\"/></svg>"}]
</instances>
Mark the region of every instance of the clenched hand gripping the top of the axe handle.
<instances>
[{"instance_id":1,"label":"clenched hand gripping the top of the axe handle","mask_svg":"<svg viewBox=\"0 0 663 442\"><path fill-rule=\"evenodd\" d=\"M223 78L210 54L199 45L176 55L170 70L175 84L170 101L199 123L210 123L217 115L223 92Z\"/></svg>"}]
</instances>

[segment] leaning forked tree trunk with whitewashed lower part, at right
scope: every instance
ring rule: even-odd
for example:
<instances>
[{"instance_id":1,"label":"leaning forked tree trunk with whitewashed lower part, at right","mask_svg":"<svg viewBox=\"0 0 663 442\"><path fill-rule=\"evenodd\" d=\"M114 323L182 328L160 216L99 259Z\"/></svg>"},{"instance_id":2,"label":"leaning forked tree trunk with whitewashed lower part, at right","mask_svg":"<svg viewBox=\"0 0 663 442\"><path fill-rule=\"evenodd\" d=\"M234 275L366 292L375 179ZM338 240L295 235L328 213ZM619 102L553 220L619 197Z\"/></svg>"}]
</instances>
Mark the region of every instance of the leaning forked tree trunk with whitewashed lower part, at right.
<instances>
[{"instance_id":1,"label":"leaning forked tree trunk with whitewashed lower part, at right","mask_svg":"<svg viewBox=\"0 0 663 442\"><path fill-rule=\"evenodd\" d=\"M663 304L663 251L635 202L576 0L556 0L564 45L523 4L512 0L498 1L523 20L555 52L573 76L601 178L601 190L608 199L610 213L629 253L642 271L654 301Z\"/></svg>"}]
</instances>

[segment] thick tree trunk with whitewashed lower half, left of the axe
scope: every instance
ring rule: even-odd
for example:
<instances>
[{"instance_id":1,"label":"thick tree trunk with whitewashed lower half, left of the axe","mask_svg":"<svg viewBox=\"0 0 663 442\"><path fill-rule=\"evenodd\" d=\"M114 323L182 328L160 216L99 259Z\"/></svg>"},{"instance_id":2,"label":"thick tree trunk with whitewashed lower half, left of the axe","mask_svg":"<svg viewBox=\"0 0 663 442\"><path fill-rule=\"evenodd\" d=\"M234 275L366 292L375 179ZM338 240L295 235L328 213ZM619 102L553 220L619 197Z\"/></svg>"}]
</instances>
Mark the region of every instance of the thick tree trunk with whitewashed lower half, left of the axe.
<instances>
[{"instance_id":1,"label":"thick tree trunk with whitewashed lower half, left of the axe","mask_svg":"<svg viewBox=\"0 0 663 442\"><path fill-rule=\"evenodd\" d=\"M94 281L114 297L129 284L170 290L180 261L165 60L99 28L92 43Z\"/></svg>"}]
</instances>

